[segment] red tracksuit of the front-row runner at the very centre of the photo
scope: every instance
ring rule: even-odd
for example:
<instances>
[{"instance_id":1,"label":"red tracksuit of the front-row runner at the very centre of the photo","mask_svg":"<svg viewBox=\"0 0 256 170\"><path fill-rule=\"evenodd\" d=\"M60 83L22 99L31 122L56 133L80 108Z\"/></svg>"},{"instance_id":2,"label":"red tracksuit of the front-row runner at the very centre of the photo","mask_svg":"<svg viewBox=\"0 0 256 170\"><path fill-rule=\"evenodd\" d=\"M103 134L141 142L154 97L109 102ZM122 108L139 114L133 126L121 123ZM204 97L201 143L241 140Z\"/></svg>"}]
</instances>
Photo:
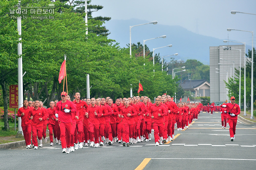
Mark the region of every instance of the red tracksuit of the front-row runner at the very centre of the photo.
<instances>
[{"instance_id":1,"label":"red tracksuit of the front-row runner at the very centre of the photo","mask_svg":"<svg viewBox=\"0 0 256 170\"><path fill-rule=\"evenodd\" d=\"M127 116L127 114L131 114L131 116ZM134 126L134 119L133 117L137 115L137 111L131 105L127 107L124 106L121 108L120 115L123 116L123 141L129 142L129 137L132 138L132 130Z\"/></svg>"}]
</instances>

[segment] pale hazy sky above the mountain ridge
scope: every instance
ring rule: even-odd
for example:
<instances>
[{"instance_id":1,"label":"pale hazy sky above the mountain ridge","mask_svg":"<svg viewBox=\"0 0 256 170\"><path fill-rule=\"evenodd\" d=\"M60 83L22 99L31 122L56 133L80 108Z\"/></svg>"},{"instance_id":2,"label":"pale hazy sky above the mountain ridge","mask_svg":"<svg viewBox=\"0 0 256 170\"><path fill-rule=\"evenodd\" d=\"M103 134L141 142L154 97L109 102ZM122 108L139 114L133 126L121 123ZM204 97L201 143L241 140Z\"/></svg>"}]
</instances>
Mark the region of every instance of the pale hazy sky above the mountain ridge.
<instances>
[{"instance_id":1,"label":"pale hazy sky above the mountain ridge","mask_svg":"<svg viewBox=\"0 0 256 170\"><path fill-rule=\"evenodd\" d=\"M229 36L248 45L252 43L251 33L227 31L227 28L256 31L256 15L230 13L237 10L256 14L256 0L92 0L91 4L104 6L93 16L157 20L162 25L178 25L218 39Z\"/></svg>"}]
</instances>

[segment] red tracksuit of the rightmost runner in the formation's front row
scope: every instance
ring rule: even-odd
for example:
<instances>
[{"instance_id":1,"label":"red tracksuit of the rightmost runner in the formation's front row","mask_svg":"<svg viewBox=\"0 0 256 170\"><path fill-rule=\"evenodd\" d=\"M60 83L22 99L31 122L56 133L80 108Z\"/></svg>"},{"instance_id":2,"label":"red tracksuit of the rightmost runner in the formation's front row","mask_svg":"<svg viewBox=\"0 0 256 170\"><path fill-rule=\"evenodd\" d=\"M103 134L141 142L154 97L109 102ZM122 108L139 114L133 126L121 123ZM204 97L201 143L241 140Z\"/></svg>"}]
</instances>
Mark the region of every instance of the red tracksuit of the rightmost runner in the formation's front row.
<instances>
[{"instance_id":1,"label":"red tracksuit of the rightmost runner in the formation's front row","mask_svg":"<svg viewBox=\"0 0 256 170\"><path fill-rule=\"evenodd\" d=\"M159 137L163 136L163 132L164 132L164 117L167 115L167 110L164 106L162 105L153 105L150 110L149 113L152 114L152 116L154 116L154 118L152 119L152 124L153 124L153 129L154 129L154 138L155 138L155 142L159 141ZM161 116L158 116L158 113Z\"/></svg>"}]
</instances>

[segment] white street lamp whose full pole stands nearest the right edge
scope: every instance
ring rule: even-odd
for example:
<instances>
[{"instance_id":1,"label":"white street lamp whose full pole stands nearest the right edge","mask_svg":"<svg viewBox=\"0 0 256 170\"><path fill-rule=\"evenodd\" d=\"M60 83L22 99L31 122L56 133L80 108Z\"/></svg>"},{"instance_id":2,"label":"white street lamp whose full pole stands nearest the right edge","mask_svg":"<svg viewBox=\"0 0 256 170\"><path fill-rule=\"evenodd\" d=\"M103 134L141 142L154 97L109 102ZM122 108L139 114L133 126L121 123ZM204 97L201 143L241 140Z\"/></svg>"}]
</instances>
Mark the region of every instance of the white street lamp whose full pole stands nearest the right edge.
<instances>
[{"instance_id":1,"label":"white street lamp whose full pole stands nearest the right edge","mask_svg":"<svg viewBox=\"0 0 256 170\"><path fill-rule=\"evenodd\" d=\"M233 28L228 28L227 31L244 31L244 30L236 30ZM244 31L244 32L250 32L252 34L252 70L251 70L251 119L254 119L253 117L253 31ZM248 109L249 110L249 109Z\"/></svg>"}]
</instances>

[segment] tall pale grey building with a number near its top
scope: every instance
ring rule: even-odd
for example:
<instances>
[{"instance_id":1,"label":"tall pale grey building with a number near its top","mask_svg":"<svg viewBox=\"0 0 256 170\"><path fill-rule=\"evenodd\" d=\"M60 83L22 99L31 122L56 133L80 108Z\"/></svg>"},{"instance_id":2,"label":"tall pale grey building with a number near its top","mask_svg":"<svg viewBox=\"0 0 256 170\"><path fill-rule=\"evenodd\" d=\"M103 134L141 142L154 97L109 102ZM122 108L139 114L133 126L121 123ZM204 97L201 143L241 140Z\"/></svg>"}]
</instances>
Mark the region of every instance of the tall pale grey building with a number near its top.
<instances>
[{"instance_id":1,"label":"tall pale grey building with a number near its top","mask_svg":"<svg viewBox=\"0 0 256 170\"><path fill-rule=\"evenodd\" d=\"M233 78L233 63L234 68L239 70L240 51L230 48L222 48L222 46L241 49L241 67L244 67L244 45L220 45L210 47L210 101L225 102L229 101L227 96L227 88L225 85L226 76ZM221 59L224 60L221 60ZM230 60L230 61L227 61ZM232 62L233 61L233 62ZM221 65L219 65L220 63ZM218 68L219 70L217 70ZM217 73L217 72L219 73ZM236 76L235 76L236 77ZM241 84L243 84L241 82Z\"/></svg>"}]
</instances>

